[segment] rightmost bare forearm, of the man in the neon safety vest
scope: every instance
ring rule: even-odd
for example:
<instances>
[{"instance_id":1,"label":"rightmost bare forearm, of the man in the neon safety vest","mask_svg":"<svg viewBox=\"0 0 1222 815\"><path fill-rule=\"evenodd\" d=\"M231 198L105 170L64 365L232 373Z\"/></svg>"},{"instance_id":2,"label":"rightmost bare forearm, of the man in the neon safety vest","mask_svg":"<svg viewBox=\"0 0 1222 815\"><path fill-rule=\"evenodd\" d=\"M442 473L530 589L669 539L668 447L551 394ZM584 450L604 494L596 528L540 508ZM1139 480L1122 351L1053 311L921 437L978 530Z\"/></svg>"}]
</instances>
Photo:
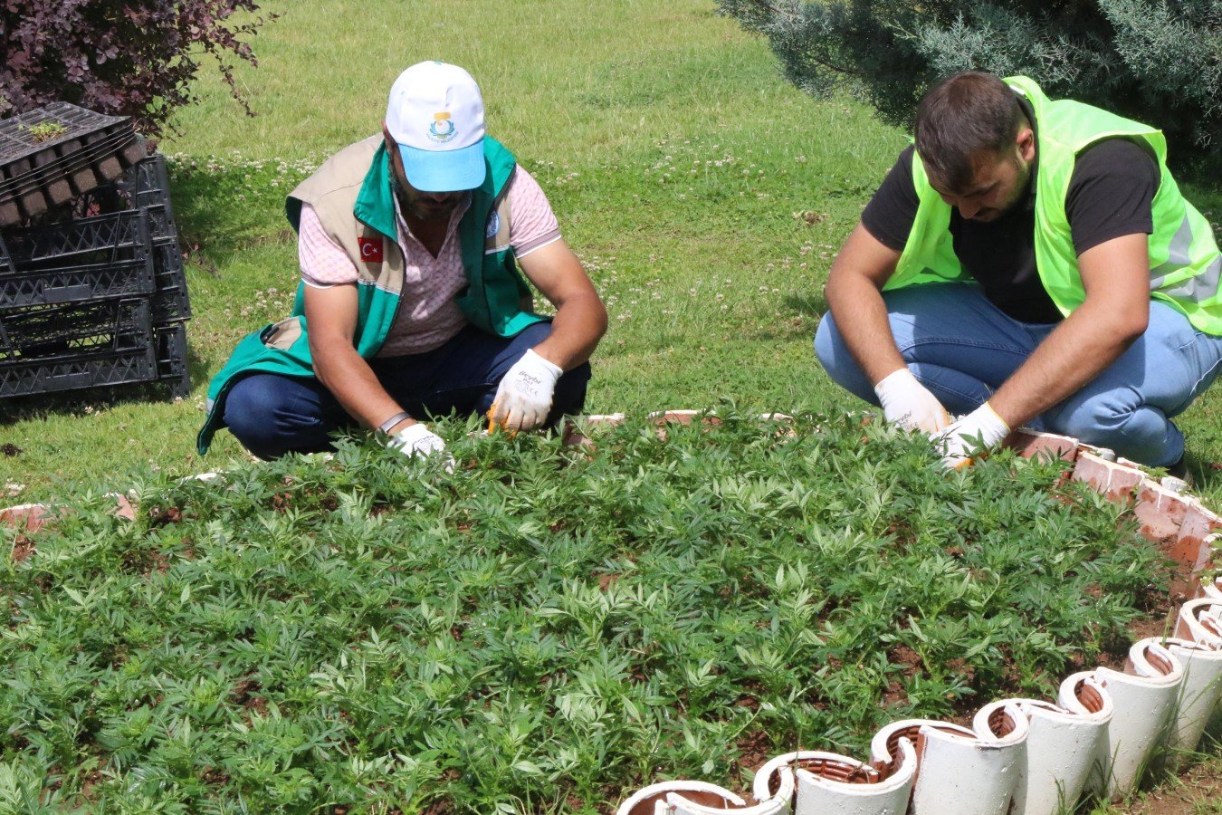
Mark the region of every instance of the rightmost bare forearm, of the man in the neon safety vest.
<instances>
[{"instance_id":1,"label":"rightmost bare forearm, of the man in the neon safety vest","mask_svg":"<svg viewBox=\"0 0 1222 815\"><path fill-rule=\"evenodd\" d=\"M1134 334L1088 301L1040 343L989 404L1017 428L1077 393L1133 345Z\"/></svg>"}]
</instances>

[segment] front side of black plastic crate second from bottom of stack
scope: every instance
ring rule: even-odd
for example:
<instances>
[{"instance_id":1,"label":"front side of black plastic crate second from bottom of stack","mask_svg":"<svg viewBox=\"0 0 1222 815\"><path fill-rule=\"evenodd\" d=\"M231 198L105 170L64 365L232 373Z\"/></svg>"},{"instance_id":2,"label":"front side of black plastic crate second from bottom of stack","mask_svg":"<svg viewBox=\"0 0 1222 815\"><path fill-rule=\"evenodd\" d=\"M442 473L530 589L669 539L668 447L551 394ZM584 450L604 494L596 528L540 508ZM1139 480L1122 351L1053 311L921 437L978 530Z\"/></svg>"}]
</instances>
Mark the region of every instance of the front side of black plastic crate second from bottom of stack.
<instances>
[{"instance_id":1,"label":"front side of black plastic crate second from bottom of stack","mask_svg":"<svg viewBox=\"0 0 1222 815\"><path fill-rule=\"evenodd\" d=\"M152 347L148 298L89 301L0 314L0 367L27 359Z\"/></svg>"}]
</instances>

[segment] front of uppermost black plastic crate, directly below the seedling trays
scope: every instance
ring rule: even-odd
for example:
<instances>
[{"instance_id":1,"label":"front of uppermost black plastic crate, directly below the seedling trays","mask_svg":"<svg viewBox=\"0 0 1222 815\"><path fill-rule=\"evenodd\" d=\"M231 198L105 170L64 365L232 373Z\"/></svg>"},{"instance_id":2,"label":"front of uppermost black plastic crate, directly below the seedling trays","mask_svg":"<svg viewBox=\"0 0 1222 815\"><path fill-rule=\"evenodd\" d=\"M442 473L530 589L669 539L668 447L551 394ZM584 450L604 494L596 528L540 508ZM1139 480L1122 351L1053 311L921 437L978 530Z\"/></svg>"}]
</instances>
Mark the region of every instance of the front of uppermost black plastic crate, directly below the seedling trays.
<instances>
[{"instance_id":1,"label":"front of uppermost black plastic crate, directly below the seedling trays","mask_svg":"<svg viewBox=\"0 0 1222 815\"><path fill-rule=\"evenodd\" d=\"M0 249L0 312L27 305L152 294L144 214L133 210L10 230Z\"/></svg>"}]
</instances>

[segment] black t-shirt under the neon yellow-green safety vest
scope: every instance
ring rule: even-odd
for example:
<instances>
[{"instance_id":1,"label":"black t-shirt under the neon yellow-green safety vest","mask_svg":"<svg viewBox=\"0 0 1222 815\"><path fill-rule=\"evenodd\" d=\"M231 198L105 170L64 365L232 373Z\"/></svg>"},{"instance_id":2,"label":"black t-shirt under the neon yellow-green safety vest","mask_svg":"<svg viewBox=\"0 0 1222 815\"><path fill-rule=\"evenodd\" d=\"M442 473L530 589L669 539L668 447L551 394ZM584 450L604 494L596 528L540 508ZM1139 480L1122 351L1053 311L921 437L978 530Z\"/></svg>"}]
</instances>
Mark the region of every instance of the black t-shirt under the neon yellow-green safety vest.
<instances>
[{"instance_id":1,"label":"black t-shirt under the neon yellow-green safety vest","mask_svg":"<svg viewBox=\"0 0 1222 815\"><path fill-rule=\"evenodd\" d=\"M995 221L965 220L952 209L951 236L964 271L975 277L993 305L1022 323L1057 323L1061 312L1035 268L1037 172L1039 167L1033 167L1026 197ZM1144 143L1112 138L1083 150L1066 197L1074 252L1080 255L1122 235L1154 232L1151 203L1158 182L1158 165ZM880 243L902 252L916 204L909 147L862 213L862 225Z\"/></svg>"}]
</instances>

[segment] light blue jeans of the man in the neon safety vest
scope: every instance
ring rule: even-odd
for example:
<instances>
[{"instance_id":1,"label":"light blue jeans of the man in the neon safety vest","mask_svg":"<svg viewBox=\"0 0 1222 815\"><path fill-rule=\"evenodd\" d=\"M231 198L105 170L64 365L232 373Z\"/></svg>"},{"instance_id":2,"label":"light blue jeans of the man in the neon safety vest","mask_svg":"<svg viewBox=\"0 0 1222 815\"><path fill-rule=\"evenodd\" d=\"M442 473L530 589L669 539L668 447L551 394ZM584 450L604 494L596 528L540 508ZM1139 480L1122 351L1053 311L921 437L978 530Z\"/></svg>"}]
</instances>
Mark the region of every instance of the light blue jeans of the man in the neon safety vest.
<instances>
[{"instance_id":1,"label":"light blue jeans of the man in the neon safety vest","mask_svg":"<svg viewBox=\"0 0 1222 815\"><path fill-rule=\"evenodd\" d=\"M1007 316L973 283L909 286L882 298L908 369L951 413L980 407L1056 327ZM838 385L879 403L830 313L815 334L815 354ZM1166 467L1184 453L1184 435L1171 418L1205 392L1220 369L1222 337L1201 334L1176 309L1151 301L1145 334L1080 391L1028 424Z\"/></svg>"}]
</instances>

